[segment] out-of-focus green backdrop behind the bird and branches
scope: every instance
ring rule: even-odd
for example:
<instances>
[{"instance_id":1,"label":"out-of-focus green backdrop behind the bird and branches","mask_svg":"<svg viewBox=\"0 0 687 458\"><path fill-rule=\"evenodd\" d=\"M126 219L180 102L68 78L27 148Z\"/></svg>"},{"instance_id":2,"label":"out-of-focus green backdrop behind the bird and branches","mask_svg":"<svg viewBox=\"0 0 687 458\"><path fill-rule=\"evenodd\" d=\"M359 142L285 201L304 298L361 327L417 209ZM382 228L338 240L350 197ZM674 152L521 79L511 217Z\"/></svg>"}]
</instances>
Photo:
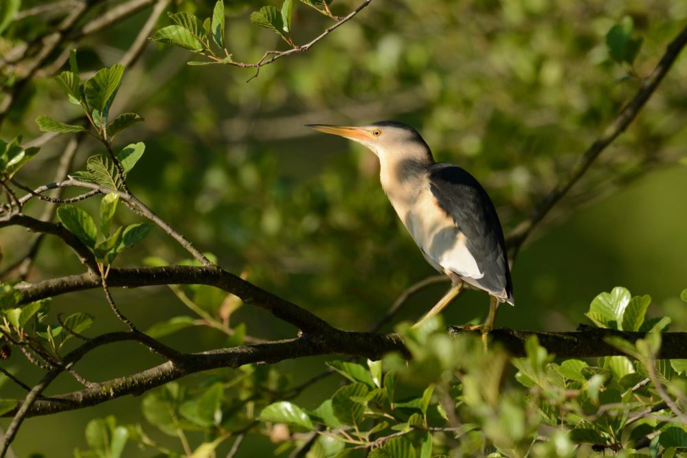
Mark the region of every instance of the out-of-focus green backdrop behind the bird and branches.
<instances>
[{"instance_id":1,"label":"out-of-focus green backdrop behind the bird and branches","mask_svg":"<svg viewBox=\"0 0 687 458\"><path fill-rule=\"evenodd\" d=\"M35 3L25 1L22 8ZM264 4L226 2L227 43L236 60L253 62L284 46L248 19ZM357 5L343 0L332 8L346 14ZM170 10L204 17L212 3L181 1ZM117 62L148 14L149 8L80 43L82 71ZM296 43L330 25L303 4L294 14ZM632 68L613 62L605 43L625 16L643 38ZM249 82L254 71L191 67L185 65L193 60L189 52L151 42L126 70L113 106L113 113L135 111L146 122L117 143L146 143L129 178L131 190L196 247L214 253L230 271L248 268L251 282L339 328L365 330L405 288L435 273L381 191L374 155L304 124L396 120L414 126L438 161L456 163L483 183L508 233L610 124L686 21L684 1L374 0L306 54L278 60ZM13 27L19 33L32 24L27 19ZM167 24L160 19L159 26ZM627 133L534 233L513 269L517 307L504 306L497 325L572 330L585 322L594 296L626 286L635 295L651 295L649 314L671 316L671 330L687 330L679 301L687 287L686 81L682 55ZM78 114L49 78L36 80L27 94L3 126L3 139L37 136L37 115L67 120ZM47 144L19 179L51 181L66 141L63 136ZM82 145L76 168L97 150L95 142ZM41 205L33 205L27 210L38 213ZM95 211L96 205L85 208ZM138 221L122 210L118 217ZM22 254L25 240L24 231L3 230L3 262ZM80 272L55 240L43 249L32 280ZM170 262L184 257L154 229L120 266L140 264L148 255ZM417 319L446 288L427 288L398 319ZM115 297L142 329L184 310L166 288L115 291ZM120 327L98 291L55 304L56 312L95 314L93 332ZM483 319L487 304L486 295L469 291L444 312L444 321ZM241 308L232 320L245 321L249 334L262 339L294 336L293 328L254 308ZM223 339L203 328L166 342L198 351L221 347ZM305 380L322 370L324 360L278 368ZM91 354L82 374L104 380L157 361L122 344ZM17 355L10 365L21 366L25 380L39 376ZM317 393L324 397L336 386L336 380L321 382L300 404L315 407L322 400ZM64 378L49 393L70 389L78 385ZM2 391L3 397L20 394L9 383ZM16 455L72 456L74 447L85 446L87 421L109 413L122 422L142 421L132 397L29 419L14 443ZM239 456L273 448L264 438L249 439L249 445Z\"/></svg>"}]
</instances>

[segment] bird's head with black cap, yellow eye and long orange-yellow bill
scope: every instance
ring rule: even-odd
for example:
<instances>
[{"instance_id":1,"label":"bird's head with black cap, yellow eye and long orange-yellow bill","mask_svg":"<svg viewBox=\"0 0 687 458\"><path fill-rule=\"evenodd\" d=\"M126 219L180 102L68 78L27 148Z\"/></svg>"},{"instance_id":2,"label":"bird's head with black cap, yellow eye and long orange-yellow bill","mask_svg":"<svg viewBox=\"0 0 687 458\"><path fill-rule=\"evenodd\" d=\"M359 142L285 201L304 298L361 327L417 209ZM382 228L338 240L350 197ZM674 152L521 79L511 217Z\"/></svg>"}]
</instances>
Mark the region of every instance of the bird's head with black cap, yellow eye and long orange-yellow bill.
<instances>
[{"instance_id":1,"label":"bird's head with black cap, yellow eye and long orange-yellow bill","mask_svg":"<svg viewBox=\"0 0 687 458\"><path fill-rule=\"evenodd\" d=\"M381 161L415 159L433 162L423 137L414 128L400 122L383 121L359 127L308 124L308 127L357 141L374 152Z\"/></svg>"}]
</instances>

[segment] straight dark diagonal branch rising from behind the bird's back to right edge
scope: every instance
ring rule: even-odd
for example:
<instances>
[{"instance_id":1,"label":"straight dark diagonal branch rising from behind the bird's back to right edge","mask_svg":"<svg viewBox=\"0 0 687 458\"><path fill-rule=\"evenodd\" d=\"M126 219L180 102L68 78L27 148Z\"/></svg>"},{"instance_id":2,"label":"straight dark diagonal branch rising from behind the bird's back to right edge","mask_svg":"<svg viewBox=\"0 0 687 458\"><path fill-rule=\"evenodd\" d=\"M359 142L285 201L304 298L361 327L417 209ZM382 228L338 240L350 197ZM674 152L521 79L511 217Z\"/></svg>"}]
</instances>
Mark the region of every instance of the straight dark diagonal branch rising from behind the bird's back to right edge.
<instances>
[{"instance_id":1,"label":"straight dark diagonal branch rising from behind the bird's back to right edge","mask_svg":"<svg viewBox=\"0 0 687 458\"><path fill-rule=\"evenodd\" d=\"M585 153L580 157L578 163L572 170L561 179L561 181L554 187L554 189L547 195L534 210L532 216L521 222L508 236L510 248L513 251L512 259L515 259L519 249L522 247L525 240L530 236L534 227L536 227L549 211L558 203L570 188L575 185L587 172L589 167L594 163L596 158L609 146L618 135L624 132L627 127L633 122L635 117L654 93L660 82L663 80L668 70L671 69L673 62L679 56L682 48L687 45L687 27L668 45L665 54L656 65L651 75L647 77L642 83L642 87L635 94L635 97L620 111L616 119L613 120L610 126L594 143L587 148Z\"/></svg>"}]
</instances>

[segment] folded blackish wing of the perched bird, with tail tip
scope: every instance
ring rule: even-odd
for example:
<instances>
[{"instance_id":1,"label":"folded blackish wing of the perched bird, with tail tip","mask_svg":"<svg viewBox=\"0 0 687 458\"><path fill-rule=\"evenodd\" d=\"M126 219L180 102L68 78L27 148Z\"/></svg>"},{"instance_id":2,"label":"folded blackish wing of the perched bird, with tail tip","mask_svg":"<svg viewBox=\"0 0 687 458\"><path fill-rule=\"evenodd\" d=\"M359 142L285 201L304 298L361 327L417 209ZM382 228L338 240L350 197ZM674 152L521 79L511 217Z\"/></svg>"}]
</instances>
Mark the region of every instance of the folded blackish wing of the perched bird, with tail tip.
<instances>
[{"instance_id":1,"label":"folded blackish wing of the perched bird, with tail tip","mask_svg":"<svg viewBox=\"0 0 687 458\"><path fill-rule=\"evenodd\" d=\"M460 167L436 163L429 168L429 190L465 235L466 247L484 273L470 283L513 304L504 232L482 185Z\"/></svg>"}]
</instances>

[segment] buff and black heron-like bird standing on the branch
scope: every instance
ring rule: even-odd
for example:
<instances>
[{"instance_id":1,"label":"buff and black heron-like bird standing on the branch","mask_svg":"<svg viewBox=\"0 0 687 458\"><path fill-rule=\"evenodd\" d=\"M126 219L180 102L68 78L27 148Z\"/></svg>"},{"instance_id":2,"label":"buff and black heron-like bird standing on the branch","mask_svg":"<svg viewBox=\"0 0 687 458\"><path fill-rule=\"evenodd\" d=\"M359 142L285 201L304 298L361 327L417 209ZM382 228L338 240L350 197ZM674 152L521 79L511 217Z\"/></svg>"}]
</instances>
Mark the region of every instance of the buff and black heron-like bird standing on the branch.
<instances>
[{"instance_id":1,"label":"buff and black heron-like bird standing on the branch","mask_svg":"<svg viewBox=\"0 0 687 458\"><path fill-rule=\"evenodd\" d=\"M381 186L396 214L425 260L451 279L448 292L414 328L440 313L469 284L491 298L484 324L471 327L486 338L499 304L515 306L515 299L504 232L484 187L457 165L434 161L418 131L400 122L307 126L356 141L379 158Z\"/></svg>"}]
</instances>

